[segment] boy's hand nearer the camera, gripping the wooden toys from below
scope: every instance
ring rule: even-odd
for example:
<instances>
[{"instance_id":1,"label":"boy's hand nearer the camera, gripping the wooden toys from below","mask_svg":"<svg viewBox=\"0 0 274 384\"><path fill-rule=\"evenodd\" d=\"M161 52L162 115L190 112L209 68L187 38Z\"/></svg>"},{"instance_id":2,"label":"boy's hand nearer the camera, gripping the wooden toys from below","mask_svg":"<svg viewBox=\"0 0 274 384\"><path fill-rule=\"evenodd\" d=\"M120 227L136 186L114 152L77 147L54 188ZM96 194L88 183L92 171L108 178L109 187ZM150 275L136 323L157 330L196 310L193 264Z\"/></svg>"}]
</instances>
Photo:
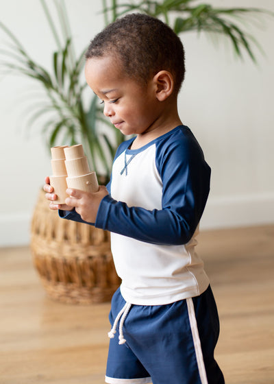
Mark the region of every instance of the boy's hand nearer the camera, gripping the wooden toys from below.
<instances>
[{"instance_id":1,"label":"boy's hand nearer the camera, gripping the wooden toys from below","mask_svg":"<svg viewBox=\"0 0 274 384\"><path fill-rule=\"evenodd\" d=\"M75 208L84 221L95 223L97 211L103 197L108 195L108 189L103 185L99 186L99 191L88 193L79 191L78 189L67 189L66 193L70 197L66 198L66 205L70 209Z\"/></svg>"}]
</instances>

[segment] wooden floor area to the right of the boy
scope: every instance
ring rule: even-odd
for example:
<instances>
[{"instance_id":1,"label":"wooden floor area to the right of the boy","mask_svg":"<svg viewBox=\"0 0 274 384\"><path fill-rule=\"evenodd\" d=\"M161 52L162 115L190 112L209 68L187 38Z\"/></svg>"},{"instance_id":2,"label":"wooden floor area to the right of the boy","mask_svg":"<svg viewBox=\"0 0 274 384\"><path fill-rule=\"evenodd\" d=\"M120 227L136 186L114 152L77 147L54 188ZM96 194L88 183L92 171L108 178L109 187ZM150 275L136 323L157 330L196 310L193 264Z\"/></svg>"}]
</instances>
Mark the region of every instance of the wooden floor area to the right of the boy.
<instances>
[{"instance_id":1,"label":"wooden floor area to the right of the boy","mask_svg":"<svg viewBox=\"0 0 274 384\"><path fill-rule=\"evenodd\" d=\"M204 232L219 309L216 357L228 384L274 383L274 226Z\"/></svg>"}]
</instances>

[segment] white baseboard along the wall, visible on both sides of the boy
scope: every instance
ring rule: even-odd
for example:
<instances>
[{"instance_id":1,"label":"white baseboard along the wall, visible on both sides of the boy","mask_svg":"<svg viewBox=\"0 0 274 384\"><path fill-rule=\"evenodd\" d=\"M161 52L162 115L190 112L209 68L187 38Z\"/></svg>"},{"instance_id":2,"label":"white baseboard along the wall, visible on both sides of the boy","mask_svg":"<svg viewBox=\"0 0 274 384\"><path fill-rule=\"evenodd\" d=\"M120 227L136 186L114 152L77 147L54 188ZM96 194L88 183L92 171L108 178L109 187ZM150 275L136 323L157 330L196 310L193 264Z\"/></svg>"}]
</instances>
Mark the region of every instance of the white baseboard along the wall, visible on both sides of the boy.
<instances>
[{"instance_id":1,"label":"white baseboard along the wall, visible on both sides of the boy","mask_svg":"<svg viewBox=\"0 0 274 384\"><path fill-rule=\"evenodd\" d=\"M28 245L31 215L1 215L0 247ZM201 230L274 224L274 194L210 197Z\"/></svg>"}]
</instances>

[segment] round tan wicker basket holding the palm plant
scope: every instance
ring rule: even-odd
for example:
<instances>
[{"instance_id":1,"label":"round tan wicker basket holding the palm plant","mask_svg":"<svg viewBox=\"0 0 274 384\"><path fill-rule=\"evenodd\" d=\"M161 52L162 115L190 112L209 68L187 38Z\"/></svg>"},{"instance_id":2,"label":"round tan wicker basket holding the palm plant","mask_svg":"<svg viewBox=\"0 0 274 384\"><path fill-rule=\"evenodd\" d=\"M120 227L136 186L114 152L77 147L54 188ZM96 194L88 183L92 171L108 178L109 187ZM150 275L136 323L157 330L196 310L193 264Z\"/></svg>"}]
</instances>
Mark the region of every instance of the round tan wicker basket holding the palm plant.
<instances>
[{"instance_id":1,"label":"round tan wicker basket holding the palm plant","mask_svg":"<svg viewBox=\"0 0 274 384\"><path fill-rule=\"evenodd\" d=\"M40 191L31 228L34 265L49 296L77 304L109 301L121 280L104 230L60 219Z\"/></svg>"}]
</instances>

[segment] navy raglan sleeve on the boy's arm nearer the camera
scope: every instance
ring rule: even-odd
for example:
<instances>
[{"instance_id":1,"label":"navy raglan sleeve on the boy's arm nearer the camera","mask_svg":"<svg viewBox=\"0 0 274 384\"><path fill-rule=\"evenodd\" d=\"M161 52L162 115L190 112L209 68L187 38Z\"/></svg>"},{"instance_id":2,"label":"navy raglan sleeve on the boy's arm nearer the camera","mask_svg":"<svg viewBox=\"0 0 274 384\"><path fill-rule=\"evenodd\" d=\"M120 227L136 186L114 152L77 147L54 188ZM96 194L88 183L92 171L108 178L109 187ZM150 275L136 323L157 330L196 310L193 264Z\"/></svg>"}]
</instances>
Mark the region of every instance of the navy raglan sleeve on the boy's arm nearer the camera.
<instances>
[{"instance_id":1,"label":"navy raglan sleeve on the boy's arm nearer the camera","mask_svg":"<svg viewBox=\"0 0 274 384\"><path fill-rule=\"evenodd\" d=\"M192 133L158 145L156 166L162 178L161 210L129 207L108 195L101 201L95 226L148 243L190 241L210 190L210 167Z\"/></svg>"}]
</instances>

